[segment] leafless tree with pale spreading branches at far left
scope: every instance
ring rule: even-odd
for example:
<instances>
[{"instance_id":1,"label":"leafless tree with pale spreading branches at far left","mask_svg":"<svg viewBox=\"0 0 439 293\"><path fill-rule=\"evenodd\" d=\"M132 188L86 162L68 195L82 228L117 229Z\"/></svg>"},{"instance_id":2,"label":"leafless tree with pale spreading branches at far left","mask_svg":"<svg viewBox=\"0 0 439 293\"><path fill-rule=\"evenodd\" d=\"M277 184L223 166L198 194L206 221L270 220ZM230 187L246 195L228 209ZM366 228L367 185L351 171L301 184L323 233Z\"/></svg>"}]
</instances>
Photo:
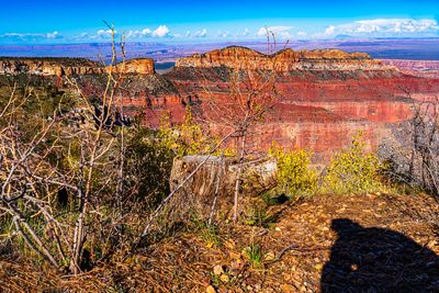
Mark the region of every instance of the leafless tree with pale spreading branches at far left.
<instances>
[{"instance_id":1,"label":"leafless tree with pale spreading branches at far left","mask_svg":"<svg viewBox=\"0 0 439 293\"><path fill-rule=\"evenodd\" d=\"M76 113L61 111L59 104L49 117L36 113L38 120L26 125L34 129L27 131L23 126L27 122L20 117L23 106L38 93L30 88L20 94L16 86L0 113L2 221L11 217L16 233L32 250L54 268L74 274L82 271L86 241L102 216L97 203L103 191L117 182L117 198L123 192L124 136L123 129L119 137L113 129L114 100L123 79L125 55L122 66L116 65L115 30L113 25L109 29L113 36L112 59L105 68L100 106L90 102L75 77L65 77L70 91L63 99L75 100ZM123 50L123 40L121 47ZM76 114L83 124L74 125ZM50 160L60 153L63 159ZM114 161L120 164L119 171ZM72 194L71 209L58 209L60 193Z\"/></svg>"}]
</instances>

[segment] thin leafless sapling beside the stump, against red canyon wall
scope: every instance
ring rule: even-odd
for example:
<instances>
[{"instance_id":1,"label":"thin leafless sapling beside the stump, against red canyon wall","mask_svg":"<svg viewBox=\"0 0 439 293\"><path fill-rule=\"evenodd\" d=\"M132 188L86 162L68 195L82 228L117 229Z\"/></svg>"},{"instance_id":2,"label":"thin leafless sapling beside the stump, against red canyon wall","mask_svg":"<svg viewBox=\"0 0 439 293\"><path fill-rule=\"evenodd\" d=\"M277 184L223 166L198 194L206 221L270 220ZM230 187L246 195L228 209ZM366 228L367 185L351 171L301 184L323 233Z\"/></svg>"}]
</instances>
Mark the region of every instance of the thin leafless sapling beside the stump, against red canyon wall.
<instances>
[{"instance_id":1,"label":"thin leafless sapling beside the stump, against red canyon wall","mask_svg":"<svg viewBox=\"0 0 439 293\"><path fill-rule=\"evenodd\" d=\"M288 43L285 43L286 46ZM272 70L246 70L239 63L235 68L227 69L227 101L215 97L215 92L209 88L209 80L201 71L204 80L203 91L205 97L205 110L209 117L204 123L213 124L217 128L232 129L236 146L236 159L239 162L234 188L234 223L238 219L238 202L243 180L243 164L250 155L249 139L258 136L258 125L261 125L267 112L281 99L281 93L275 87L277 72L277 42L273 32L267 30L267 57ZM238 52L235 52L238 54ZM245 57L245 56L243 56Z\"/></svg>"}]
</instances>

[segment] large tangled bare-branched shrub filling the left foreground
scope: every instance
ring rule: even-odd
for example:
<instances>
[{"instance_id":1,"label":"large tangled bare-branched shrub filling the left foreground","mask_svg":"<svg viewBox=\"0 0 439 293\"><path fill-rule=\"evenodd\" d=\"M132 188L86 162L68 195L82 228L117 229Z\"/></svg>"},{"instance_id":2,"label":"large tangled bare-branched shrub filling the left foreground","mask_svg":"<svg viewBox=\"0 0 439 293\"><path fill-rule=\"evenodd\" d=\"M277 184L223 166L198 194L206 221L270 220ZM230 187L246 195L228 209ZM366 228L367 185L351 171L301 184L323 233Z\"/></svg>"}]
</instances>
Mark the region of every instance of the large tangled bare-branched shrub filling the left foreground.
<instances>
[{"instance_id":1,"label":"large tangled bare-branched shrub filling the left foreground","mask_svg":"<svg viewBox=\"0 0 439 293\"><path fill-rule=\"evenodd\" d=\"M97 102L65 77L68 91L56 103L45 90L15 83L0 113L1 222L54 268L75 274L126 245L132 221L124 201L128 131L115 106L125 55L115 70L109 29L112 60Z\"/></svg>"}]
</instances>

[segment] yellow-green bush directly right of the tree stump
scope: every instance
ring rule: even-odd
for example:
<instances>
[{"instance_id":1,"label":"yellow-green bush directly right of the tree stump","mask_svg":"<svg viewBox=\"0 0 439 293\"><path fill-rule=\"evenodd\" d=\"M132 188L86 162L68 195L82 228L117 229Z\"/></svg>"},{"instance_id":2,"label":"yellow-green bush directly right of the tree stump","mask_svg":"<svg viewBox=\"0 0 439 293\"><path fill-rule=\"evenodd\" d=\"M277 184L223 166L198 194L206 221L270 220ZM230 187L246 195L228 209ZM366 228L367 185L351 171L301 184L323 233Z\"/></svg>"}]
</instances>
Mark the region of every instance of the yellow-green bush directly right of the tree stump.
<instances>
[{"instance_id":1,"label":"yellow-green bush directly right of the tree stump","mask_svg":"<svg viewBox=\"0 0 439 293\"><path fill-rule=\"evenodd\" d=\"M278 188L289 195L315 193L318 183L316 171L309 169L312 154L307 150L284 151L273 143L269 155L278 160Z\"/></svg>"}]
</instances>

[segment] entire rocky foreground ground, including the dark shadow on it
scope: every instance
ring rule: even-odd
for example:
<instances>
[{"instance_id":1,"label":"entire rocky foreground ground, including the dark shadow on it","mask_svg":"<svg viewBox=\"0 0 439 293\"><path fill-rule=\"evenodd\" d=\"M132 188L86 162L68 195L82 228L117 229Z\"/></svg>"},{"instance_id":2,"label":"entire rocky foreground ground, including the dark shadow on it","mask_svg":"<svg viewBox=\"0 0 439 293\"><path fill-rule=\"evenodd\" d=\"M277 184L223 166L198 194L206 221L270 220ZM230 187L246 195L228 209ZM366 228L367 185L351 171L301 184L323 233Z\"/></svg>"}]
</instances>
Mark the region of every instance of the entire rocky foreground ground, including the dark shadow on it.
<instances>
[{"instance_id":1,"label":"entire rocky foreground ground, including the dark shadow on it","mask_svg":"<svg viewBox=\"0 0 439 293\"><path fill-rule=\"evenodd\" d=\"M260 227L225 225L217 235L181 232L75 278L59 278L1 253L0 288L4 292L439 292L439 205L427 196L319 195L272 205L269 214L275 217L271 222L264 217ZM256 248L254 261L246 252L250 246Z\"/></svg>"}]
</instances>

